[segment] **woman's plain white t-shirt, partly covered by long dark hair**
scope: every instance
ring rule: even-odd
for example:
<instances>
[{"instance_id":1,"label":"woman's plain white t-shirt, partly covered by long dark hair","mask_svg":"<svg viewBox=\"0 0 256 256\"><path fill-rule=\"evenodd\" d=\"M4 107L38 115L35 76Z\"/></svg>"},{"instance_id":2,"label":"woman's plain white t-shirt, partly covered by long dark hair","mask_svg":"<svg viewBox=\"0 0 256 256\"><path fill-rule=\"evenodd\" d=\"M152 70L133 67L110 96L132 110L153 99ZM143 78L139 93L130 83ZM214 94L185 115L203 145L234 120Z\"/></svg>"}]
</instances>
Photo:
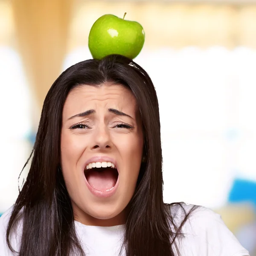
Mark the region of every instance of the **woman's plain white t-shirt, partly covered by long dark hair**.
<instances>
[{"instance_id":1,"label":"woman's plain white t-shirt, partly covered by long dark hair","mask_svg":"<svg viewBox=\"0 0 256 256\"><path fill-rule=\"evenodd\" d=\"M182 204L186 212L193 206ZM0 256L14 256L6 244L5 232L12 211L10 208L0 218ZM175 204L171 207L172 215L179 224L184 212ZM124 225L114 227L86 226L75 221L76 232L87 256L117 256L122 245ZM22 218L18 221L15 232L11 234L11 244L19 250L22 230ZM184 237L178 242L182 256L249 256L235 236L228 230L221 216L205 207L198 207L183 226ZM122 256L125 256L123 253Z\"/></svg>"}]
</instances>

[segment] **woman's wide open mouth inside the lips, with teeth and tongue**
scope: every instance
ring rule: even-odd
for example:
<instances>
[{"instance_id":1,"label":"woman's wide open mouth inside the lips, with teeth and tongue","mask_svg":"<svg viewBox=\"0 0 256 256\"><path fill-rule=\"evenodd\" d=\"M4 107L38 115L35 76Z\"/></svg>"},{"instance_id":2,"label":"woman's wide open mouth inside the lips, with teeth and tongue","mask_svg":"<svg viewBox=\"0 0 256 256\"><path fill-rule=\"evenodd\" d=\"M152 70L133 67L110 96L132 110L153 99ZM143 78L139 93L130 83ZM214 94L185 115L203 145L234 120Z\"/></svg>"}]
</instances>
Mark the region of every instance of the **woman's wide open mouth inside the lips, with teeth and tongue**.
<instances>
[{"instance_id":1,"label":"woman's wide open mouth inside the lips, with teeth and tongue","mask_svg":"<svg viewBox=\"0 0 256 256\"><path fill-rule=\"evenodd\" d=\"M111 162L89 163L84 175L89 185L101 192L111 191L118 179L116 166Z\"/></svg>"}]
</instances>

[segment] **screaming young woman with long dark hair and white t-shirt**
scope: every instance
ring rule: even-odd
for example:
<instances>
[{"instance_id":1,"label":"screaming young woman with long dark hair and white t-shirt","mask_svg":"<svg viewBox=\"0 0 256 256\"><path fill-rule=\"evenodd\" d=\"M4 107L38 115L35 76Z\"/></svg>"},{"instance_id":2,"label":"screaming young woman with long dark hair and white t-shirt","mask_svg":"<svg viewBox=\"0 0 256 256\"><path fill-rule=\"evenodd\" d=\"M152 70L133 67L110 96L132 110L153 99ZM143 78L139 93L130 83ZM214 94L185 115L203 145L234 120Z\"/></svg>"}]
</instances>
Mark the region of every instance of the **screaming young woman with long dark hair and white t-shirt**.
<instances>
[{"instance_id":1,"label":"screaming young woman with long dark hair and white t-shirt","mask_svg":"<svg viewBox=\"0 0 256 256\"><path fill-rule=\"evenodd\" d=\"M128 58L62 73L32 153L26 183L0 218L0 256L249 255L211 210L163 203L157 95Z\"/></svg>"}]
</instances>

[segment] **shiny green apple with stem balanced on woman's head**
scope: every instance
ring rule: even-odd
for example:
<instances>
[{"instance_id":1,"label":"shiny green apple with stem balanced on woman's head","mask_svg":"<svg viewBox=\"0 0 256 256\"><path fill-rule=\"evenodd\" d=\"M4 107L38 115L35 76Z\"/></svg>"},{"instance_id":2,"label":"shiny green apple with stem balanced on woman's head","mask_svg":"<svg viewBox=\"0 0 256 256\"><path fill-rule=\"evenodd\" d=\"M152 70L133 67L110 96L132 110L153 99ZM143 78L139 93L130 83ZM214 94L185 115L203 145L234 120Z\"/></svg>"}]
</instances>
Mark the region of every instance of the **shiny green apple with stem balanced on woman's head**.
<instances>
[{"instance_id":1,"label":"shiny green apple with stem balanced on woman's head","mask_svg":"<svg viewBox=\"0 0 256 256\"><path fill-rule=\"evenodd\" d=\"M125 13L126 15L126 13ZM99 17L89 34L89 49L93 58L109 54L135 58L141 51L145 33L140 23L107 14Z\"/></svg>"}]
</instances>

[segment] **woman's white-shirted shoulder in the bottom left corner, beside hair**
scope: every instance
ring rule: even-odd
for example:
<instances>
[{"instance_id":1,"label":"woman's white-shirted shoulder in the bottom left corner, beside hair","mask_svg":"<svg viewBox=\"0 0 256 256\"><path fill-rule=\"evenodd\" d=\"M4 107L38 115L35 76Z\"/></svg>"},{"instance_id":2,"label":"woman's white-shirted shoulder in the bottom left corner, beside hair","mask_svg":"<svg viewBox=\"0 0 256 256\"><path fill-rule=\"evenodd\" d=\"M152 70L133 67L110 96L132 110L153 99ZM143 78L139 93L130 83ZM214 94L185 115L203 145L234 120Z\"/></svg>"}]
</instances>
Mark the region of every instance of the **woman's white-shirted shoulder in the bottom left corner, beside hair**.
<instances>
[{"instance_id":1,"label":"woman's white-shirted shoulder in the bottom left corner, beside hair","mask_svg":"<svg viewBox=\"0 0 256 256\"><path fill-rule=\"evenodd\" d=\"M16 254L12 253L9 249L6 241L6 230L9 223L9 219L12 215L13 207L9 208L1 217L0 217L0 256L14 256ZM20 216L21 217L21 216ZM18 244L21 237L22 229L22 219L19 217L18 221L15 223L15 226L10 234L10 242L12 247L17 251Z\"/></svg>"}]
</instances>

